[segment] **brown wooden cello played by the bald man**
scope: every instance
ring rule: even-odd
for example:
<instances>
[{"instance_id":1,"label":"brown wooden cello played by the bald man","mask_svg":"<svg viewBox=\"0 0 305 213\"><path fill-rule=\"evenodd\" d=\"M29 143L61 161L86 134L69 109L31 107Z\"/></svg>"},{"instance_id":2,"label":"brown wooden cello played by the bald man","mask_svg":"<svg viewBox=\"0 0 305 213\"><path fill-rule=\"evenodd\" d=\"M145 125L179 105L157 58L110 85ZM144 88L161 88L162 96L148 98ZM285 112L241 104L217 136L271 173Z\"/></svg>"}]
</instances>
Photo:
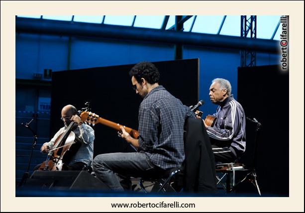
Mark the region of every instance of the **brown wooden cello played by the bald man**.
<instances>
[{"instance_id":1,"label":"brown wooden cello played by the bald man","mask_svg":"<svg viewBox=\"0 0 305 213\"><path fill-rule=\"evenodd\" d=\"M76 143L78 140L73 132L76 127L77 124L71 122L67 129L56 138L53 148L48 152L47 159L40 165L38 170L62 170L63 164L68 162L81 146L81 143ZM76 145L72 146L75 143Z\"/></svg>"}]
</instances>

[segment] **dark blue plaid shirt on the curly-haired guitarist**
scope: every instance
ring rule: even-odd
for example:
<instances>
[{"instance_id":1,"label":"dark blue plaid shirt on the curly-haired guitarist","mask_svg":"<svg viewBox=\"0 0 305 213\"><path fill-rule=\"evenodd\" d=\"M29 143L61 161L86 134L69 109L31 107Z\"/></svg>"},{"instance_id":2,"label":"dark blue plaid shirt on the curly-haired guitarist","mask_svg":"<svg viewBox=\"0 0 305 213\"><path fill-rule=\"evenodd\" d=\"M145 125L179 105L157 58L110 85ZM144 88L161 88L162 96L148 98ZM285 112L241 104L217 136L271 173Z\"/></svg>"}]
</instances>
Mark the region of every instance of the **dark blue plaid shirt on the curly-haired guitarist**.
<instances>
[{"instance_id":1,"label":"dark blue plaid shirt on the curly-haired guitarist","mask_svg":"<svg viewBox=\"0 0 305 213\"><path fill-rule=\"evenodd\" d=\"M139 107L139 151L162 169L180 167L184 155L185 119L195 114L164 87L146 95Z\"/></svg>"}]
</instances>

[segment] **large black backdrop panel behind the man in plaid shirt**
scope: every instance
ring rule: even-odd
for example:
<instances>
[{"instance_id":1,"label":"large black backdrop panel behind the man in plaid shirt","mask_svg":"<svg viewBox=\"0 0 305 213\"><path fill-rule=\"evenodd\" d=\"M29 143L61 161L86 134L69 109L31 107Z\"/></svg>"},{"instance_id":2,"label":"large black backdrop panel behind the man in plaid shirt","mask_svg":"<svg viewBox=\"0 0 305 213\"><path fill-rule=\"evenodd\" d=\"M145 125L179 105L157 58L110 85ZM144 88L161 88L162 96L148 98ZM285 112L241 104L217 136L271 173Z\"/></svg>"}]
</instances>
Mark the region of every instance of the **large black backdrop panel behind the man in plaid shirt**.
<instances>
[{"instance_id":1,"label":"large black backdrop panel behind the man in plaid shirt","mask_svg":"<svg viewBox=\"0 0 305 213\"><path fill-rule=\"evenodd\" d=\"M199 60L154 62L159 69L160 85L183 104L198 102ZM121 65L54 72L52 74L51 127L54 135L63 126L60 120L63 106L72 104L80 110L85 102L100 117L137 129L138 108L142 101L132 89L129 70L134 66ZM133 149L117 137L114 129L97 124L94 156L101 153L128 152Z\"/></svg>"}]
</instances>

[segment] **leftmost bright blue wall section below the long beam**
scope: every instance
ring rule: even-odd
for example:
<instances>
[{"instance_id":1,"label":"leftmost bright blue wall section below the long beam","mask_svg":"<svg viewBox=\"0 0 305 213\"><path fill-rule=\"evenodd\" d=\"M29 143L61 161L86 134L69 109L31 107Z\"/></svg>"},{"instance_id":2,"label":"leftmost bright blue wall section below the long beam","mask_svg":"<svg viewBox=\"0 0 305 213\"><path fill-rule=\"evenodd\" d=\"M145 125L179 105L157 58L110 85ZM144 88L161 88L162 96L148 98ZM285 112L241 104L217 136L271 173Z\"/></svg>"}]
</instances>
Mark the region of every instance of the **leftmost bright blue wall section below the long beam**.
<instances>
[{"instance_id":1,"label":"leftmost bright blue wall section below the long beam","mask_svg":"<svg viewBox=\"0 0 305 213\"><path fill-rule=\"evenodd\" d=\"M16 34L16 78L33 79L44 69L66 70L68 37Z\"/></svg>"}]
</instances>

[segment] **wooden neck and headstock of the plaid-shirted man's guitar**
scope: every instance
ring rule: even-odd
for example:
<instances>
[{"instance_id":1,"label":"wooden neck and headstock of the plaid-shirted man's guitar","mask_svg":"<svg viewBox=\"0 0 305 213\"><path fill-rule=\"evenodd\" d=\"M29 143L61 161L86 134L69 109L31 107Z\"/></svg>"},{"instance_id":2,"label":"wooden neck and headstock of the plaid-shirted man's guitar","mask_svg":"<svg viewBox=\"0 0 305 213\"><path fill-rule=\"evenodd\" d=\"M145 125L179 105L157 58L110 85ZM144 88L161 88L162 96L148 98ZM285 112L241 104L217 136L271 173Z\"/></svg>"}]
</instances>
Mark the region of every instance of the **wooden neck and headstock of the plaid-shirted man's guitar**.
<instances>
[{"instance_id":1,"label":"wooden neck and headstock of the plaid-shirted man's guitar","mask_svg":"<svg viewBox=\"0 0 305 213\"><path fill-rule=\"evenodd\" d=\"M89 125L92 124L93 126L97 123L101 123L105 126L108 126L110 128L113 128L117 131L121 131L120 127L124 127L126 132L128 132L130 134L131 137L137 139L139 137L139 132L137 130L134 130L132 128L126 127L124 125L112 122L110 120L106 120L102 117L100 117L99 115L97 115L96 113L92 113L91 111L83 111L80 114L81 119L88 123Z\"/></svg>"}]
</instances>

